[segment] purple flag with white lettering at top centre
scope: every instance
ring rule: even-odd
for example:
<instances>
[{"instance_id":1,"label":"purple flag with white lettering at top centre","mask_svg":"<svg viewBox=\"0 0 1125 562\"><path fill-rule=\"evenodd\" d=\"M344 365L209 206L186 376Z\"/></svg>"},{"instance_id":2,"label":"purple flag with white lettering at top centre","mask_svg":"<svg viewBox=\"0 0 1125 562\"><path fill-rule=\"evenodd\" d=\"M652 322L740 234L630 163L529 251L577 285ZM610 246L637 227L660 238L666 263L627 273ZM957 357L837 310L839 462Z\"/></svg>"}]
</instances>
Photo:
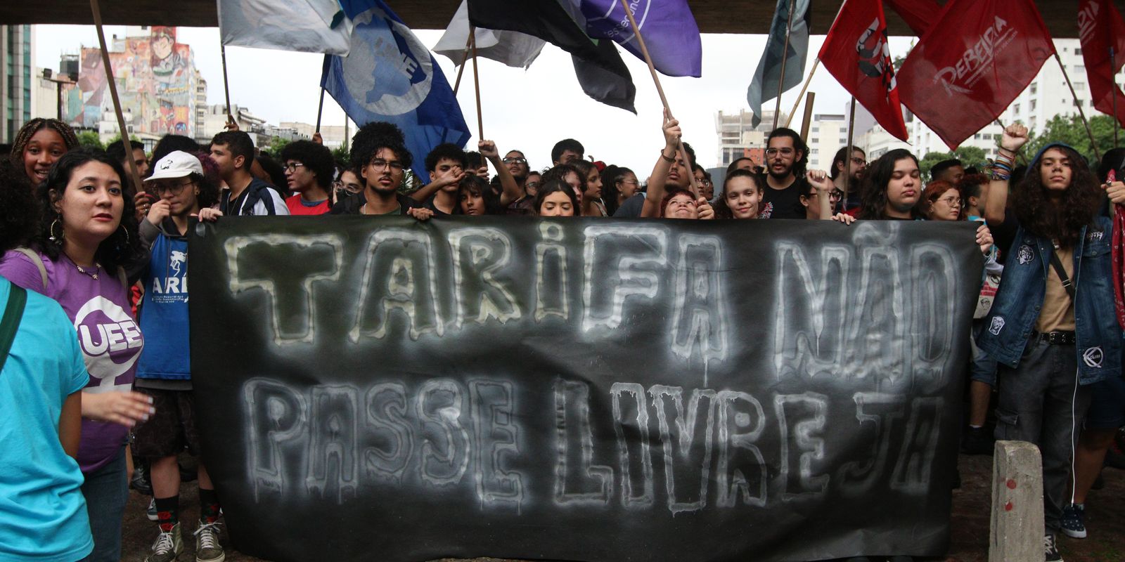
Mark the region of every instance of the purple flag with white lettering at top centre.
<instances>
[{"instance_id":1,"label":"purple flag with white lettering at top centre","mask_svg":"<svg viewBox=\"0 0 1125 562\"><path fill-rule=\"evenodd\" d=\"M579 8L591 37L613 39L645 60L621 0L582 0ZM702 74L700 28L686 0L631 0L629 8L657 71L669 76Z\"/></svg>"}]
</instances>

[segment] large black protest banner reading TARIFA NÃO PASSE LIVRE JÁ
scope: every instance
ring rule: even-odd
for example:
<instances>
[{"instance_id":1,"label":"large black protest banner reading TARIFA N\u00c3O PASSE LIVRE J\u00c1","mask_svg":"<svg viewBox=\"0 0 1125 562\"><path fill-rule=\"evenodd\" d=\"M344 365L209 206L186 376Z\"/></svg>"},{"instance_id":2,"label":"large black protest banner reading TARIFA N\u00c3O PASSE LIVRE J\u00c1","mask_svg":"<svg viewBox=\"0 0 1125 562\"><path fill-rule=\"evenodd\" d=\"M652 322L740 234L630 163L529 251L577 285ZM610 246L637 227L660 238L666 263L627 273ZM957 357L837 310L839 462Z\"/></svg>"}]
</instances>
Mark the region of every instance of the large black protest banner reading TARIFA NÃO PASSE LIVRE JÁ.
<instances>
[{"instance_id":1,"label":"large black protest banner reading TARIFA N\u00c3O PASSE LIVRE J\u00c1","mask_svg":"<svg viewBox=\"0 0 1125 562\"><path fill-rule=\"evenodd\" d=\"M231 537L277 561L940 554L974 228L199 225Z\"/></svg>"}]
</instances>

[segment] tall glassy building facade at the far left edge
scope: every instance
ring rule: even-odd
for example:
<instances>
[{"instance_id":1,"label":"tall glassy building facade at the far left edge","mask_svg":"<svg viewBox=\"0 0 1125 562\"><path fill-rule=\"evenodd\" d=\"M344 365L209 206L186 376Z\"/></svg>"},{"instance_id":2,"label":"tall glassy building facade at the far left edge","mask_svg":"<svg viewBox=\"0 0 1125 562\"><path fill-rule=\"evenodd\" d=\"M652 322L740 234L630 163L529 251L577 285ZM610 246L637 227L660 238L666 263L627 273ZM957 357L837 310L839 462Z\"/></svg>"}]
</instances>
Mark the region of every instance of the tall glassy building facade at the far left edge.
<instances>
[{"instance_id":1,"label":"tall glassy building facade at the far left edge","mask_svg":"<svg viewBox=\"0 0 1125 562\"><path fill-rule=\"evenodd\" d=\"M11 143L16 133L33 112L35 64L32 48L35 44L35 28L29 25L0 26L0 53L3 72L0 72L0 137Z\"/></svg>"}]
</instances>

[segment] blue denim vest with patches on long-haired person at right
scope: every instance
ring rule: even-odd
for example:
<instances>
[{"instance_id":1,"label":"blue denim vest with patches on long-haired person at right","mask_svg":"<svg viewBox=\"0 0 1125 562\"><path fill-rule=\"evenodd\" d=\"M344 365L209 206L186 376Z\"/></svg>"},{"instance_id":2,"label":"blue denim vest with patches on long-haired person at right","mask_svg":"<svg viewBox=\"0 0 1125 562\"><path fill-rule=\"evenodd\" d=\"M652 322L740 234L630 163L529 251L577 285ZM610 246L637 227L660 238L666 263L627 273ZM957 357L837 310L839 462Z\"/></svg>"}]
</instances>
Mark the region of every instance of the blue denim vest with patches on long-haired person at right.
<instances>
[{"instance_id":1,"label":"blue denim vest with patches on long-haired person at right","mask_svg":"<svg viewBox=\"0 0 1125 562\"><path fill-rule=\"evenodd\" d=\"M1098 217L1094 227L1082 228L1074 247L1074 327L1078 371L1081 384L1091 384L1122 370L1122 328L1114 308L1113 265L1109 251L1109 219ZM976 342L981 350L1010 368L1020 356L1043 309L1054 245L1023 227L1008 251L1004 278L984 332Z\"/></svg>"}]
</instances>

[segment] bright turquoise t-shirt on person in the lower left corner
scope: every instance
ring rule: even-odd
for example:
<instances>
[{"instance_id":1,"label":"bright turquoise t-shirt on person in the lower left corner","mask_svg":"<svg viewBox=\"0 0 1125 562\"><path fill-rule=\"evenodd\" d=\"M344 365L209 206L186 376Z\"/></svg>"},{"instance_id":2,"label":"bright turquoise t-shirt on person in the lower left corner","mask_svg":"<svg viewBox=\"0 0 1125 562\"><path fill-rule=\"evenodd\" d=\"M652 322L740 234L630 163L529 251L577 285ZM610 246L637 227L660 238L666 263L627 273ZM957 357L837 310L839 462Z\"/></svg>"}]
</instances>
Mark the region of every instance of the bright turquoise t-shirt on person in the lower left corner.
<instances>
[{"instance_id":1,"label":"bright turquoise t-shirt on person in the lower left corner","mask_svg":"<svg viewBox=\"0 0 1125 562\"><path fill-rule=\"evenodd\" d=\"M0 277L0 310L10 290ZM27 291L0 371L0 560L73 562L93 550L82 471L58 441L63 401L89 381L66 312Z\"/></svg>"}]
</instances>

